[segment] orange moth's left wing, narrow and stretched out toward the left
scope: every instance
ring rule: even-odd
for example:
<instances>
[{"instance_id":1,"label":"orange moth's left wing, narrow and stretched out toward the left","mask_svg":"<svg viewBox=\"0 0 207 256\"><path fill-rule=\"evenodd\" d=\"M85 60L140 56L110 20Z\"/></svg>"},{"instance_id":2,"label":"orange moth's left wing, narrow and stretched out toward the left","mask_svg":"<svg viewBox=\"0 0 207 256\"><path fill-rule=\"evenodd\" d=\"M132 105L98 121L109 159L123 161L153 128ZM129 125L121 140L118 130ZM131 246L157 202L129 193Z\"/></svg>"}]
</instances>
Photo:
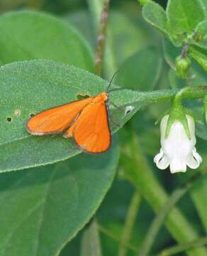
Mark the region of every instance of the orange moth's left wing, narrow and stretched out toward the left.
<instances>
[{"instance_id":1,"label":"orange moth's left wing, narrow and stretched out toward the left","mask_svg":"<svg viewBox=\"0 0 207 256\"><path fill-rule=\"evenodd\" d=\"M71 102L60 107L53 107L39 114L35 114L34 117L28 120L26 128L28 132L33 135L57 134L63 132L72 124L79 112L81 112L89 102L91 102L91 97L85 100Z\"/></svg>"}]
</instances>

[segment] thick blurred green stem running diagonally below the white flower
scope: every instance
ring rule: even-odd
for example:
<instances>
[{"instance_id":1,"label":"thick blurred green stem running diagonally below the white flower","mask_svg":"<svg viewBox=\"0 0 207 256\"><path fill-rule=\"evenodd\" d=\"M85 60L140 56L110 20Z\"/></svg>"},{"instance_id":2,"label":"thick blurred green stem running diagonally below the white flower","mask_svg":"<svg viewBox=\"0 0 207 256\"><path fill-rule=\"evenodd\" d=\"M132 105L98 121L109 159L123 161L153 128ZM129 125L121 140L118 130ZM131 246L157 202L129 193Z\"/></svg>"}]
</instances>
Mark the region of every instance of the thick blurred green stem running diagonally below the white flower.
<instances>
[{"instance_id":1,"label":"thick blurred green stem running diagonally below the white flower","mask_svg":"<svg viewBox=\"0 0 207 256\"><path fill-rule=\"evenodd\" d=\"M152 173L152 169L147 163L147 159L140 149L138 138L134 135L132 142L128 142L130 154L123 154L121 164L125 169L125 177L134 184L140 194L145 197L155 212L159 212L169 200L167 193ZM125 149L126 150L126 149ZM135 168L136 166L136 168ZM164 224L178 242L189 242L198 238L198 233L192 228L188 220L182 215L177 207L174 207ZM188 255L207 255L204 247L189 250Z\"/></svg>"}]
</instances>

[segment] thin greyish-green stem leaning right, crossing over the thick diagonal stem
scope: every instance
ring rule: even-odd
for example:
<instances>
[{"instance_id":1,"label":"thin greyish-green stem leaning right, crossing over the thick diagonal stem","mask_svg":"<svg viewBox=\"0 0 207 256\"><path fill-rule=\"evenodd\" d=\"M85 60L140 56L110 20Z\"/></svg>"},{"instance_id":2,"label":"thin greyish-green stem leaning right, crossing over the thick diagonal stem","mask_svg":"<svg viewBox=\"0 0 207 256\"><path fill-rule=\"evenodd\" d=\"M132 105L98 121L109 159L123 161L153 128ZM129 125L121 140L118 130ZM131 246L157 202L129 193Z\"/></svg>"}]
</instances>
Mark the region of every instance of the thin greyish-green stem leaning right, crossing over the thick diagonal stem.
<instances>
[{"instance_id":1,"label":"thin greyish-green stem leaning right, crossing over the thick diagonal stem","mask_svg":"<svg viewBox=\"0 0 207 256\"><path fill-rule=\"evenodd\" d=\"M181 199L184 194L189 191L189 188L194 184L195 178L200 178L200 175L196 174L193 176L189 182L174 190L167 203L162 207L159 213L157 213L155 219L152 221L150 228L147 231L146 238L143 242L142 249L140 250L140 256L147 256L150 252L153 242L156 239L156 236L164 223L164 219L175 206L175 204Z\"/></svg>"}]
</instances>

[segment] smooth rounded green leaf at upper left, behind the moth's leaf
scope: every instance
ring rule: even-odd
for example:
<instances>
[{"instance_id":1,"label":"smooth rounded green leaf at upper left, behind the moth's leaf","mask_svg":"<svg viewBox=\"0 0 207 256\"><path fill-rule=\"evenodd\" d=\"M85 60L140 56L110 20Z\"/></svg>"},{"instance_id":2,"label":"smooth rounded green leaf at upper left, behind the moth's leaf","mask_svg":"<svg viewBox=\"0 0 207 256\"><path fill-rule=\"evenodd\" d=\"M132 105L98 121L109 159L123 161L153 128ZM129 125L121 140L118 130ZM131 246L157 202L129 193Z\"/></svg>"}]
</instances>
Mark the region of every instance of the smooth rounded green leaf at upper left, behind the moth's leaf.
<instances>
[{"instance_id":1,"label":"smooth rounded green leaf at upper left, behind the moth's leaf","mask_svg":"<svg viewBox=\"0 0 207 256\"><path fill-rule=\"evenodd\" d=\"M18 11L0 17L0 60L48 59L94 70L86 41L67 23L37 11Z\"/></svg>"}]
</instances>

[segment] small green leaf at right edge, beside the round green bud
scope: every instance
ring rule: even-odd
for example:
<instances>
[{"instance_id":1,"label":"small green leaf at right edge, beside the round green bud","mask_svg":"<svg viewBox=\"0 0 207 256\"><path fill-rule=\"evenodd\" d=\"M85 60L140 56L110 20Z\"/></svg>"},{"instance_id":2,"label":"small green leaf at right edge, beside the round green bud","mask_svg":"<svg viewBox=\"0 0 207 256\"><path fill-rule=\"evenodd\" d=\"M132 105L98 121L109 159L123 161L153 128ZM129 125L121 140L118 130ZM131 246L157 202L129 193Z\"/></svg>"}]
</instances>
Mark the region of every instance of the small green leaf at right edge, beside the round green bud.
<instances>
[{"instance_id":1,"label":"small green leaf at right edge, beside the round green bud","mask_svg":"<svg viewBox=\"0 0 207 256\"><path fill-rule=\"evenodd\" d=\"M189 53L191 54L191 57L194 58L205 71L207 71L207 49L199 46L190 46Z\"/></svg>"}]
</instances>

